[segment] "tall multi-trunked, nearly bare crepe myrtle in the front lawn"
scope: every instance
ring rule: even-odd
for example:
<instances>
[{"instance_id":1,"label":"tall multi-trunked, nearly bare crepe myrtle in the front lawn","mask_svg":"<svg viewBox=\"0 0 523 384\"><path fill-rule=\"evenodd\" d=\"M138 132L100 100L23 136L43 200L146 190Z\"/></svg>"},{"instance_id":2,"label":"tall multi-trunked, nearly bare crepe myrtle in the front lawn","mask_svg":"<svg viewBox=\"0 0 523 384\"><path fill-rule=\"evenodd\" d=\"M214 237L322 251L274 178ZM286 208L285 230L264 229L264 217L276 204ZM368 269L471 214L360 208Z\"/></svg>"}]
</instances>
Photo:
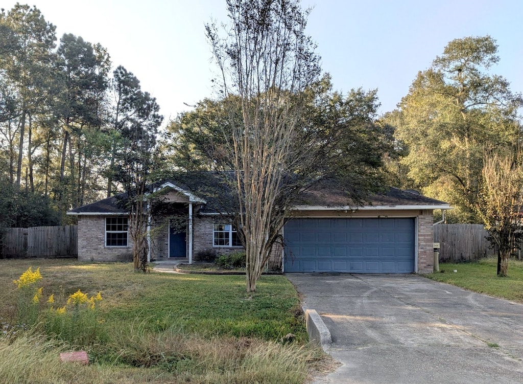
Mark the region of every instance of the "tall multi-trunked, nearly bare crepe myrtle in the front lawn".
<instances>
[{"instance_id":1,"label":"tall multi-trunked, nearly bare crepe myrtle in the front lawn","mask_svg":"<svg viewBox=\"0 0 523 384\"><path fill-rule=\"evenodd\" d=\"M297 188L289 183L302 157L294 138L300 130L304 91L321 70L315 44L305 34L309 10L303 10L298 0L226 4L230 23L223 28L209 24L206 31L231 125L227 144L233 153L250 292L256 290L284 224L285 194ZM237 98L241 116L234 103L226 105Z\"/></svg>"}]
</instances>

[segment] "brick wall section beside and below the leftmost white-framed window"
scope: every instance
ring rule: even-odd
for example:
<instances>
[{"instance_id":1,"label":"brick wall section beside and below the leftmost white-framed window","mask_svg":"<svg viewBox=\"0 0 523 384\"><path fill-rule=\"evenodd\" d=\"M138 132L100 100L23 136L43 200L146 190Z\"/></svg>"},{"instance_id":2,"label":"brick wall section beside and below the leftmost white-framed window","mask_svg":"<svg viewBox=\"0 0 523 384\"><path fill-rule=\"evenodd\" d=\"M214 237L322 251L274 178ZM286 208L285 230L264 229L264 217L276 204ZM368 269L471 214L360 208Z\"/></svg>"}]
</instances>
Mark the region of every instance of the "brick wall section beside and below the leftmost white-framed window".
<instances>
[{"instance_id":1,"label":"brick wall section beside and below the leftmost white-framed window","mask_svg":"<svg viewBox=\"0 0 523 384\"><path fill-rule=\"evenodd\" d=\"M78 216L79 261L132 261L132 239L127 247L105 246L105 219L108 216Z\"/></svg>"}]
</instances>

